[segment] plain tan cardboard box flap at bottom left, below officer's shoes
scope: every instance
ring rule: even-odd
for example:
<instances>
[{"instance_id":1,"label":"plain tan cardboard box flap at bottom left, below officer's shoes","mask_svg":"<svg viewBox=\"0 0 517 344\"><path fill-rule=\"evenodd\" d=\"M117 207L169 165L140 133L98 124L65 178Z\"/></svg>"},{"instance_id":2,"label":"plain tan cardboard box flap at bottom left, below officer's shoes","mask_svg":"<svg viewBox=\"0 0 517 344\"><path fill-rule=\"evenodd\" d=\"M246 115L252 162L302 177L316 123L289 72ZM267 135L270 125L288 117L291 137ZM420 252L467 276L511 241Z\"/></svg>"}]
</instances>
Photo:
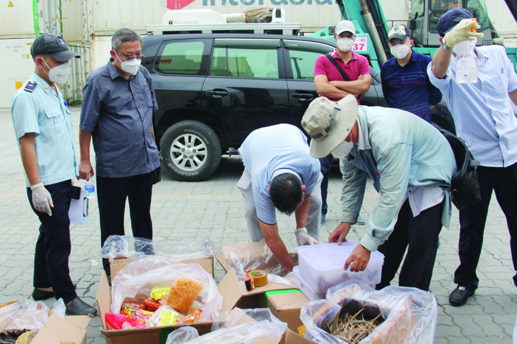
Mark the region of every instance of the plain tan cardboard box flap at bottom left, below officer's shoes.
<instances>
[{"instance_id":1,"label":"plain tan cardboard box flap at bottom left, below officer's shoes","mask_svg":"<svg viewBox=\"0 0 517 344\"><path fill-rule=\"evenodd\" d=\"M93 316L66 316L52 314L31 344L86 344L86 327Z\"/></svg>"}]
</instances>

